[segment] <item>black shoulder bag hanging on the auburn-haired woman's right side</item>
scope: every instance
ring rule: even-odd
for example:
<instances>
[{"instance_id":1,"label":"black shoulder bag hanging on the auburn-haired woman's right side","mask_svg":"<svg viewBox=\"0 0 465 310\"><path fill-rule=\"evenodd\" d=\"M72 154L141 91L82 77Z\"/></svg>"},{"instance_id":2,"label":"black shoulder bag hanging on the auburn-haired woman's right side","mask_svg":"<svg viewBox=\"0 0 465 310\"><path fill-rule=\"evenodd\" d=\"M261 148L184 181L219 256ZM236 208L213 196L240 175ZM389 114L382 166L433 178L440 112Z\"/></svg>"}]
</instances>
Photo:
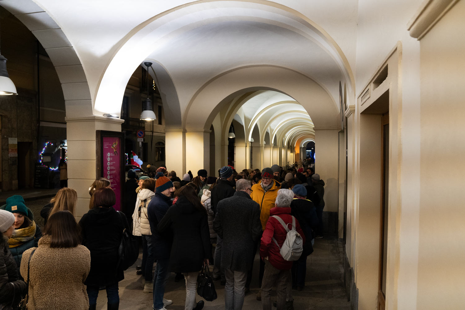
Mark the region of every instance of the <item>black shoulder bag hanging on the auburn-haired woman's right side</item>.
<instances>
[{"instance_id":1,"label":"black shoulder bag hanging on the auburn-haired woman's right side","mask_svg":"<svg viewBox=\"0 0 465 310\"><path fill-rule=\"evenodd\" d=\"M123 235L121 236L120 246L118 247L118 269L126 270L131 267L139 257L139 243L133 234L126 228L127 220L123 212L118 211L123 222ZM124 217L124 218L123 218ZM126 222L126 223L125 223Z\"/></svg>"}]
</instances>

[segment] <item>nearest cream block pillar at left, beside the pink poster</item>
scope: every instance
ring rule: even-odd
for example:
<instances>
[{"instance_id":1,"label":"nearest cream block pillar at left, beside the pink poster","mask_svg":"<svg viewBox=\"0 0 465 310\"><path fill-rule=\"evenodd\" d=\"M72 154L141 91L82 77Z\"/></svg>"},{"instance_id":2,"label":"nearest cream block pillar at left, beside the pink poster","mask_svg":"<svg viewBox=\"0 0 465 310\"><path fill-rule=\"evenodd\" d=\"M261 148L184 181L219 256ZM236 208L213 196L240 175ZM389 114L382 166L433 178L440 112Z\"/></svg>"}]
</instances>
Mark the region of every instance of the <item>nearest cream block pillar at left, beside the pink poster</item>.
<instances>
[{"instance_id":1,"label":"nearest cream block pillar at left, beside the pink poster","mask_svg":"<svg viewBox=\"0 0 465 310\"><path fill-rule=\"evenodd\" d=\"M66 139L68 145L68 186L76 190L78 203L76 219L89 211L89 186L100 175L96 173L96 131L121 132L123 119L103 116L66 117ZM124 143L124 141L123 141ZM124 182L124 180L123 180Z\"/></svg>"}]
</instances>

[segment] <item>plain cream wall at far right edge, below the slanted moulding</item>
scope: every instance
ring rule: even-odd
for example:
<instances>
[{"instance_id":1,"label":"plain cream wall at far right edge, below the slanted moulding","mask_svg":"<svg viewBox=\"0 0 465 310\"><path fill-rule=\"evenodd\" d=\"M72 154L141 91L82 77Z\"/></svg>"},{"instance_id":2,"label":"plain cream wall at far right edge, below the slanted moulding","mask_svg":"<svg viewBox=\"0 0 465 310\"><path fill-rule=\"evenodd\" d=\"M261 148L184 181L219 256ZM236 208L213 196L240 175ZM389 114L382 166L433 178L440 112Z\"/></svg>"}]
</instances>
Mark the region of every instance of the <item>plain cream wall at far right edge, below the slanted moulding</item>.
<instances>
[{"instance_id":1,"label":"plain cream wall at far right edge, below the slanted moulding","mask_svg":"<svg viewBox=\"0 0 465 310\"><path fill-rule=\"evenodd\" d=\"M420 40L421 184L416 302L421 310L458 310L465 305L464 16L465 1L461 0Z\"/></svg>"}]
</instances>

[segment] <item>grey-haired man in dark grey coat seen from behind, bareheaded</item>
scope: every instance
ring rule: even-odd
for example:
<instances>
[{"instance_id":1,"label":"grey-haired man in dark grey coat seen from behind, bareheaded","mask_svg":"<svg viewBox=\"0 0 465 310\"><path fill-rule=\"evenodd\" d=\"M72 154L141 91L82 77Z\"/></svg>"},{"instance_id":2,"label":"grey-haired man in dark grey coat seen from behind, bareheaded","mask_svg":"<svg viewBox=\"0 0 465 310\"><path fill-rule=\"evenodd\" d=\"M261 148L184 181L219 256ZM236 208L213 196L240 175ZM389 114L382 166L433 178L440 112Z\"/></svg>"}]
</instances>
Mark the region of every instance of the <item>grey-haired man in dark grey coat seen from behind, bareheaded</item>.
<instances>
[{"instance_id":1,"label":"grey-haired man in dark grey coat seen from behind, bareheaded","mask_svg":"<svg viewBox=\"0 0 465 310\"><path fill-rule=\"evenodd\" d=\"M225 309L240 310L244 304L247 271L255 242L262 232L260 206L250 198L250 181L239 179L233 197L218 202L213 229L223 239L221 269L225 269Z\"/></svg>"}]
</instances>

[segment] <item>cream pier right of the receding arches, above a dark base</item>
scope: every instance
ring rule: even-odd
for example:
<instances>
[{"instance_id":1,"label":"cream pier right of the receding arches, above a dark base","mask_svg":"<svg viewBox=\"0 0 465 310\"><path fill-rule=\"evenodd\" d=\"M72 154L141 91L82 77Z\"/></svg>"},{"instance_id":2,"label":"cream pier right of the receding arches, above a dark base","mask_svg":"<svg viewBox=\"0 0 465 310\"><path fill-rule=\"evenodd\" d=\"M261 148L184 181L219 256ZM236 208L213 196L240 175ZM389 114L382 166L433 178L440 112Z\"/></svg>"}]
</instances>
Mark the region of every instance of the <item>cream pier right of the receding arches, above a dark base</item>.
<instances>
[{"instance_id":1,"label":"cream pier right of the receding arches, above a dark base","mask_svg":"<svg viewBox=\"0 0 465 310\"><path fill-rule=\"evenodd\" d=\"M325 210L337 212L339 208L339 130L315 128L315 173L325 181Z\"/></svg>"}]
</instances>

